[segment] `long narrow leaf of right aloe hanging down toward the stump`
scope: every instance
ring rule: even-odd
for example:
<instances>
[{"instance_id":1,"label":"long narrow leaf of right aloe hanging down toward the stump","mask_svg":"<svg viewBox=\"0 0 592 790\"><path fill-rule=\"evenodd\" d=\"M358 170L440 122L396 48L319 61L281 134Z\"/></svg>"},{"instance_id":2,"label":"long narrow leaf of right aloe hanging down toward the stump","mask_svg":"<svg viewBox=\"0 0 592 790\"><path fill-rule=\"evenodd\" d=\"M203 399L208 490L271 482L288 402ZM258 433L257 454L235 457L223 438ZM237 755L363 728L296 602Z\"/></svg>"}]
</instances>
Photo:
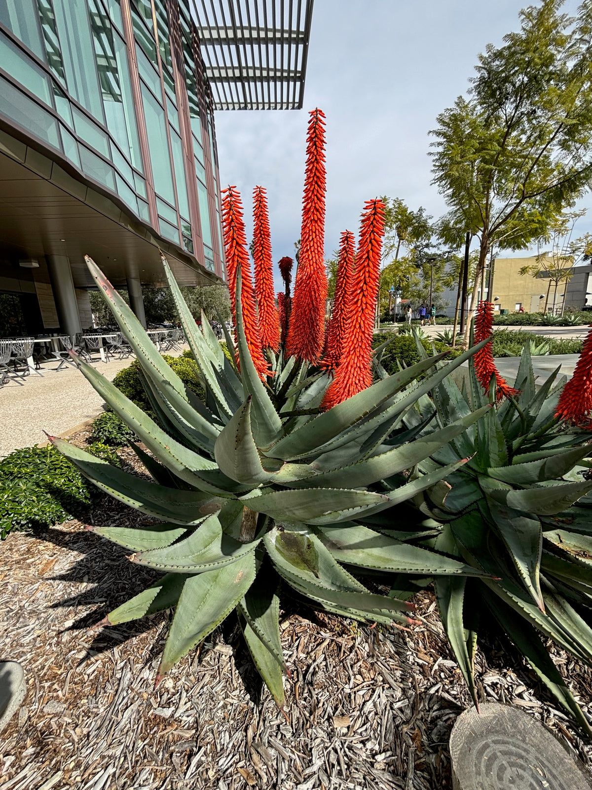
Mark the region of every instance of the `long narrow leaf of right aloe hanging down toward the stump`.
<instances>
[{"instance_id":1,"label":"long narrow leaf of right aloe hanging down toward the stump","mask_svg":"<svg viewBox=\"0 0 592 790\"><path fill-rule=\"evenodd\" d=\"M437 537L436 547L447 554L457 556L460 554L449 527L445 527L440 536ZM463 673L465 683L469 687L470 695L478 709L479 703L477 690L475 689L474 666L466 645L466 630L463 618L466 578L437 577L434 580L434 588L436 589L436 599L442 625L446 631L452 652L455 654L455 659L459 664L459 669Z\"/></svg>"}]
</instances>

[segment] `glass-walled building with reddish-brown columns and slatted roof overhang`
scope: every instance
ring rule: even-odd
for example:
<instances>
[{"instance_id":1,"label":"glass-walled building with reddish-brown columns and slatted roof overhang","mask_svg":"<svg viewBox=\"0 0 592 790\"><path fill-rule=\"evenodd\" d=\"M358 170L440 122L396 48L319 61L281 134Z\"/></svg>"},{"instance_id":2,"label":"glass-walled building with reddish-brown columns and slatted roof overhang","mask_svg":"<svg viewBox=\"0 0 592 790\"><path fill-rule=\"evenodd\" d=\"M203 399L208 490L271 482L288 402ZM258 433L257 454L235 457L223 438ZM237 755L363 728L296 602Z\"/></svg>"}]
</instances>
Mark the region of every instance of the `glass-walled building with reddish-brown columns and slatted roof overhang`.
<instances>
[{"instance_id":1,"label":"glass-walled building with reddish-brown columns and slatted roof overhang","mask_svg":"<svg viewBox=\"0 0 592 790\"><path fill-rule=\"evenodd\" d=\"M302 107L311 13L0 0L0 335L90 325L84 254L140 318L159 249L180 284L224 280L214 110Z\"/></svg>"}]
</instances>

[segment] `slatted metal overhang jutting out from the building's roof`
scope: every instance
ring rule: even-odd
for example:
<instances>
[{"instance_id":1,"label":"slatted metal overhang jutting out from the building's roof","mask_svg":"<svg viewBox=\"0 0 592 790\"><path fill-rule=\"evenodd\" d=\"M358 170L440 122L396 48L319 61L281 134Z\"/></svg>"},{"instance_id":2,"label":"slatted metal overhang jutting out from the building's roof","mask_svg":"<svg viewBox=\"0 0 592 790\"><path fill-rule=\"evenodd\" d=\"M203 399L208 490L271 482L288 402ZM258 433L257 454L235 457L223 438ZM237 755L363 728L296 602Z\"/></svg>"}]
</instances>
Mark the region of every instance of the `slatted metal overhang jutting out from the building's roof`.
<instances>
[{"instance_id":1,"label":"slatted metal overhang jutting out from the building's roof","mask_svg":"<svg viewBox=\"0 0 592 790\"><path fill-rule=\"evenodd\" d=\"M192 0L216 110L302 108L314 0Z\"/></svg>"}]
</instances>

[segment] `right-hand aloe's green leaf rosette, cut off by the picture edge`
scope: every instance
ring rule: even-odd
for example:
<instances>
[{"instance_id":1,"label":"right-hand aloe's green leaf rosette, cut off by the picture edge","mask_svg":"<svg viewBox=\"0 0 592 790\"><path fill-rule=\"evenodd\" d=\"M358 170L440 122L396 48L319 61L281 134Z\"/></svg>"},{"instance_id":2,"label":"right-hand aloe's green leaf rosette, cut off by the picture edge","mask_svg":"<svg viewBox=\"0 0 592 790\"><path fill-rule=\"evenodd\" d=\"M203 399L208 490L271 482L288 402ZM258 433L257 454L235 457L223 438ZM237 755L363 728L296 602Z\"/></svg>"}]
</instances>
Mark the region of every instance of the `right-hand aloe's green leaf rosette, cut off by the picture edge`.
<instances>
[{"instance_id":1,"label":"right-hand aloe's green leaf rosette, cut off by the picture edge","mask_svg":"<svg viewBox=\"0 0 592 790\"><path fill-rule=\"evenodd\" d=\"M418 352L425 361L419 342ZM592 464L587 460L592 447L589 431L555 416L566 380L559 371L537 388L526 344L514 385L519 393L500 403L493 382L489 393L482 392L471 359L468 381L459 386L454 378L443 378L433 397L419 397L403 422L408 430L419 430L419 438L491 407L485 419L419 462L427 476L460 457L470 459L445 483L413 498L417 529L429 518L434 530L419 544L485 574L433 580L444 629L475 703L479 621L489 625L493 619L592 734L544 645L550 638L592 664ZM389 511L380 517L384 529ZM414 537L410 532L407 540ZM411 581L397 580L399 596L406 597L406 589L408 595L416 591Z\"/></svg>"}]
</instances>

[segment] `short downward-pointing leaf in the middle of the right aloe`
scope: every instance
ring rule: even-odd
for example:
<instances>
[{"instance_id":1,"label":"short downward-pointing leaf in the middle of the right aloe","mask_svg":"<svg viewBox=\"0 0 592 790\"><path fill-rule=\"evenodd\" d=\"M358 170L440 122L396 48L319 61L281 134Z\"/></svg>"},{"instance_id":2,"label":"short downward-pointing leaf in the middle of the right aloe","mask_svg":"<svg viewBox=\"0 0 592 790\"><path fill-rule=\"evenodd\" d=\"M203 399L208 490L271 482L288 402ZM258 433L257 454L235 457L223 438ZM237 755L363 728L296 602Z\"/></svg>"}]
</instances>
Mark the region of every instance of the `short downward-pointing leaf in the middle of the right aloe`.
<instances>
[{"instance_id":1,"label":"short downward-pointing leaf in the middle of the right aloe","mask_svg":"<svg viewBox=\"0 0 592 790\"><path fill-rule=\"evenodd\" d=\"M545 611L541 592L542 529L538 518L489 501L496 530L510 552L512 562L534 603Z\"/></svg>"}]
</instances>

